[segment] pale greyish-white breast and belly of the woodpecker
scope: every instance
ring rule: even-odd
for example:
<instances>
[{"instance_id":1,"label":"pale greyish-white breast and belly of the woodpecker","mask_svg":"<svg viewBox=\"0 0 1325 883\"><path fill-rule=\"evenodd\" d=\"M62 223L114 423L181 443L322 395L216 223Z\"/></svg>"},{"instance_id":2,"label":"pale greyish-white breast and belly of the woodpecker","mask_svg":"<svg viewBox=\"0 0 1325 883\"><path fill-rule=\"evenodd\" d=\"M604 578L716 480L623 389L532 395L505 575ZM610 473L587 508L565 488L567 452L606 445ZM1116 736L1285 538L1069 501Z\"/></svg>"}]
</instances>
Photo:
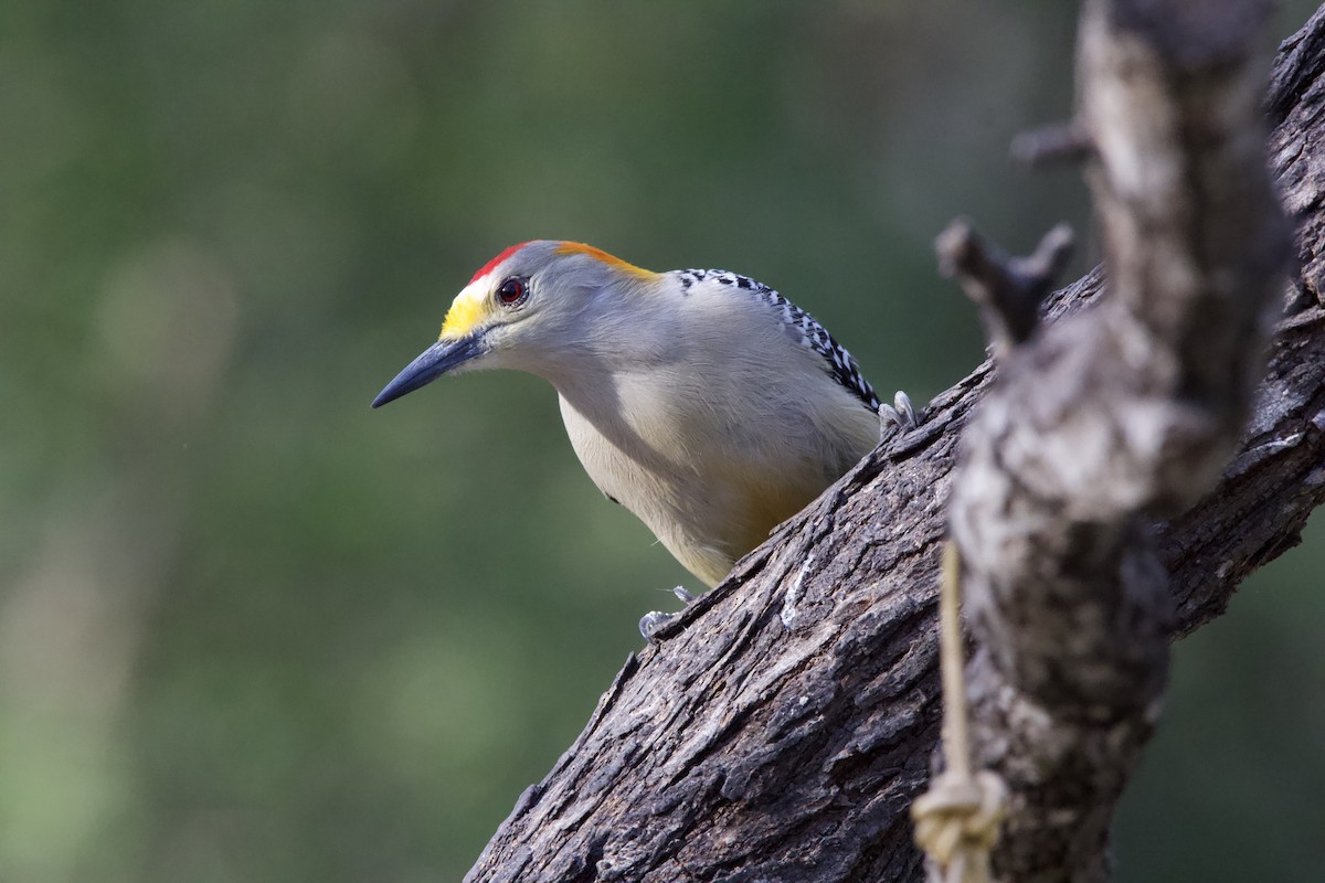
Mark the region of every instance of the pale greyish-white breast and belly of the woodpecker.
<instances>
[{"instance_id":1,"label":"pale greyish-white breast and belly of the woodpecker","mask_svg":"<svg viewBox=\"0 0 1325 883\"><path fill-rule=\"evenodd\" d=\"M873 447L877 417L747 293L702 282L669 306L554 383L594 482L714 585Z\"/></svg>"}]
</instances>

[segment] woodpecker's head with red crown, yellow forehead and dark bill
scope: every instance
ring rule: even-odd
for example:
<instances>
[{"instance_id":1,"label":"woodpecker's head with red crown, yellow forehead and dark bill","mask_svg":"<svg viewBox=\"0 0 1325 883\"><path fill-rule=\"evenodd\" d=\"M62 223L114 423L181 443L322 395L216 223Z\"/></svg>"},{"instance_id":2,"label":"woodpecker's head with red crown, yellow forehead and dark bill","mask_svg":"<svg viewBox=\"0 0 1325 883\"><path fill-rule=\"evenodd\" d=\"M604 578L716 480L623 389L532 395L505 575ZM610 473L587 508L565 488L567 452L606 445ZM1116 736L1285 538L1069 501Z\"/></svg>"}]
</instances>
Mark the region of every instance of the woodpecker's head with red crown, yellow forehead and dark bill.
<instances>
[{"instance_id":1,"label":"woodpecker's head with red crown, yellow forehead and dark bill","mask_svg":"<svg viewBox=\"0 0 1325 883\"><path fill-rule=\"evenodd\" d=\"M629 297L659 279L582 242L513 245L478 269L447 311L437 343L378 393L380 408L447 373L515 368L549 376L602 330L604 297Z\"/></svg>"}]
</instances>

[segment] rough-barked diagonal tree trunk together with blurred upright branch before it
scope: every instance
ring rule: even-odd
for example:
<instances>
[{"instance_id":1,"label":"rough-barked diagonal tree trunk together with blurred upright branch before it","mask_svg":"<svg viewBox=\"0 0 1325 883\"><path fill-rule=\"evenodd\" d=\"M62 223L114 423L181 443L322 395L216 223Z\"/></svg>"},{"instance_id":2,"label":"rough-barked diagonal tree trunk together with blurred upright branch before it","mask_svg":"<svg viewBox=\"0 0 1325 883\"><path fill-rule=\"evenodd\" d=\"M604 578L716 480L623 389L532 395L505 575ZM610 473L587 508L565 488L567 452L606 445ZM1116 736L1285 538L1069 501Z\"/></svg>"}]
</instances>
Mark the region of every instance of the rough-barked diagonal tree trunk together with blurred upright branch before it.
<instances>
[{"instance_id":1,"label":"rough-barked diagonal tree trunk together with blurred upright branch before it","mask_svg":"<svg viewBox=\"0 0 1325 883\"><path fill-rule=\"evenodd\" d=\"M466 879L922 878L908 808L938 737L950 516L978 761L1012 789L995 870L1108 878L1169 639L1325 498L1325 12L1280 48L1264 105L1261 20L1086 4L1080 131L1108 285L1055 294L1040 324L1034 286L994 291L998 371L938 396L629 658ZM963 283L1019 266L966 265Z\"/></svg>"}]
</instances>

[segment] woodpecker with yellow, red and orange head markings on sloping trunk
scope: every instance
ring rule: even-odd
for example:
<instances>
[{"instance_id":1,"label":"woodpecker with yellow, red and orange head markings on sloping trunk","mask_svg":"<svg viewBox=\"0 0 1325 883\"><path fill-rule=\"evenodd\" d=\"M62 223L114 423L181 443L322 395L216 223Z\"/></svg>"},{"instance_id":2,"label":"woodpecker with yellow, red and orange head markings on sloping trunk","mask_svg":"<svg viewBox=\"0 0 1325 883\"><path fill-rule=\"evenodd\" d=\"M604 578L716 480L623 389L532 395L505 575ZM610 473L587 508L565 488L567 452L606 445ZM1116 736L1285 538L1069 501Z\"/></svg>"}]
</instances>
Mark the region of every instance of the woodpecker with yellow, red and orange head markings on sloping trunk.
<instances>
[{"instance_id":1,"label":"woodpecker with yellow, red and orange head markings on sloping trunk","mask_svg":"<svg viewBox=\"0 0 1325 883\"><path fill-rule=\"evenodd\" d=\"M580 242L485 263L372 406L484 368L547 380L594 483L709 586L888 426L914 424L902 393L880 405L851 353L768 286Z\"/></svg>"}]
</instances>

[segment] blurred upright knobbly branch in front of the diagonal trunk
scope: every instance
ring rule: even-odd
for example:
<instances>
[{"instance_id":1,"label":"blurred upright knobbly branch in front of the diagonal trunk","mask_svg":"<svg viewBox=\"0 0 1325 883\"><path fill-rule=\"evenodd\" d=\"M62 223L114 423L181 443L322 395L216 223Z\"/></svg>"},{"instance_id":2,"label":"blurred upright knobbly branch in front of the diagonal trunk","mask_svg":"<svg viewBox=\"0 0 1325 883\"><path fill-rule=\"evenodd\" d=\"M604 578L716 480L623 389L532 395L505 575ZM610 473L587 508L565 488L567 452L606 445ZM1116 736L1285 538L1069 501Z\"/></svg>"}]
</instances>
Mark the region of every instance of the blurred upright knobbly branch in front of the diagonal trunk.
<instances>
[{"instance_id":1,"label":"blurred upright knobbly branch in front of the diagonal trunk","mask_svg":"<svg viewBox=\"0 0 1325 883\"><path fill-rule=\"evenodd\" d=\"M1173 596L1149 519L1214 486L1280 306L1259 23L1244 3L1194 20L1169 5L1085 4L1080 118L1109 291L1002 360L954 483L975 752L1012 794L1000 879L1109 878L1113 806L1167 675Z\"/></svg>"}]
</instances>

